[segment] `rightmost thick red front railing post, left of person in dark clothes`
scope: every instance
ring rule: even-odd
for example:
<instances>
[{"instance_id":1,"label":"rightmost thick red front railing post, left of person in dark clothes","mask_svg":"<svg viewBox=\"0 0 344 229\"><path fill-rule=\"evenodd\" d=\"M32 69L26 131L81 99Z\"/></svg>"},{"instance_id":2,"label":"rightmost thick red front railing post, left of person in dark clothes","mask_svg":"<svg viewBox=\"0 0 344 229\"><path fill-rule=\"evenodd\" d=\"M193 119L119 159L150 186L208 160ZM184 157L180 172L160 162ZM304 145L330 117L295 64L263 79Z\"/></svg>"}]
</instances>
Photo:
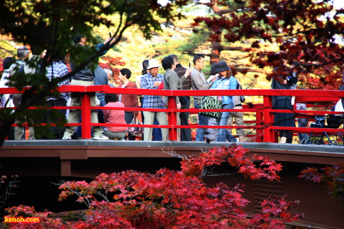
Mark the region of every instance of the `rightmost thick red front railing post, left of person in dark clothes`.
<instances>
[{"instance_id":1,"label":"rightmost thick red front railing post, left of person in dark clothes","mask_svg":"<svg viewBox=\"0 0 344 229\"><path fill-rule=\"evenodd\" d=\"M270 126L274 123L273 114L271 114L269 111L272 109L272 97L271 96L264 96L264 107L263 107L263 115L264 115L264 143L273 143L274 142L274 136L273 136L273 130L270 129Z\"/></svg>"}]
</instances>

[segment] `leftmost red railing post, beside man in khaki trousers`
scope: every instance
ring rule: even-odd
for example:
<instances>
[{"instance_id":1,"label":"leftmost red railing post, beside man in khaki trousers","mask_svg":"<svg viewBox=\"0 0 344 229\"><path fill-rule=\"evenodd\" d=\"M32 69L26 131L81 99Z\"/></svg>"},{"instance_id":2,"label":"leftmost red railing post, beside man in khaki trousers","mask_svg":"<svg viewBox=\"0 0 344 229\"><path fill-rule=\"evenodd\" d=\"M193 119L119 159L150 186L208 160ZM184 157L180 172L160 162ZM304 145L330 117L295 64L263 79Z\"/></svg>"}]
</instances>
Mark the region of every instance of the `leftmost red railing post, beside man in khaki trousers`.
<instances>
[{"instance_id":1,"label":"leftmost red railing post, beside man in khaki trousers","mask_svg":"<svg viewBox=\"0 0 344 229\"><path fill-rule=\"evenodd\" d=\"M84 93L81 99L81 137L82 139L91 138L91 95Z\"/></svg>"}]
</instances>

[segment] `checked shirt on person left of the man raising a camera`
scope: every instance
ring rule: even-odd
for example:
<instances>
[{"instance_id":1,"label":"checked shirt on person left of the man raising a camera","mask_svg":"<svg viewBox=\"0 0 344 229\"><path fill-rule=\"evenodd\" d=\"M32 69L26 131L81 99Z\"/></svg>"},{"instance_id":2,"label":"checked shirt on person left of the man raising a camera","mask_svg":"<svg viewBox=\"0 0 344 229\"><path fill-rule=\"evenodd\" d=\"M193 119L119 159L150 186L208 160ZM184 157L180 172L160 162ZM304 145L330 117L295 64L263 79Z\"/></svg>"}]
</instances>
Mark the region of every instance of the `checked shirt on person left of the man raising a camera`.
<instances>
[{"instance_id":1,"label":"checked shirt on person left of the man raising a camera","mask_svg":"<svg viewBox=\"0 0 344 229\"><path fill-rule=\"evenodd\" d=\"M46 77L49 79L49 81L52 81L53 79L60 78L66 74L68 74L68 68L62 61L54 61L52 66L47 67L47 74ZM62 85L69 85L69 80L65 79L62 82L57 83L58 86ZM60 96L47 96L45 100L56 100L56 99L64 99L68 100L69 93L61 93Z\"/></svg>"}]
</instances>

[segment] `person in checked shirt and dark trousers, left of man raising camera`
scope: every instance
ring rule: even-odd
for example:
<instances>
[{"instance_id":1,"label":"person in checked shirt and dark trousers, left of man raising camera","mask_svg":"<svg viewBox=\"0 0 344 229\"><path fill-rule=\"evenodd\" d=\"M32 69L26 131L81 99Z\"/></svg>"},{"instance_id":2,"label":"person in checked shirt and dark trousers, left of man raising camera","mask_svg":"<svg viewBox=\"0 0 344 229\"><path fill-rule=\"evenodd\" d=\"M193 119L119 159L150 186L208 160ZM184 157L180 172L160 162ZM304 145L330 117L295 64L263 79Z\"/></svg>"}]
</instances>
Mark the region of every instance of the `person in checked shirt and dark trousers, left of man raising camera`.
<instances>
[{"instance_id":1,"label":"person in checked shirt and dark trousers, left of man raising camera","mask_svg":"<svg viewBox=\"0 0 344 229\"><path fill-rule=\"evenodd\" d=\"M47 67L47 74L46 77L49 81L53 81L53 79L60 78L68 73L68 68L66 66L66 60L63 57L57 57L53 60L53 65ZM69 80L65 79L62 82L57 83L58 86L62 85L69 85ZM47 106L51 107L65 107L67 106L67 100L69 99L69 93L61 93L60 95L56 96L48 96L45 98L47 102ZM56 109L56 112L60 113L60 116L66 115L65 109ZM60 122L61 117L57 117L56 115L52 115L50 112L47 113L45 122L42 123L58 123ZM57 127L52 126L49 130L50 133L54 134L53 139L62 139L63 133L65 131L65 127ZM48 133L49 133L48 132Z\"/></svg>"}]
</instances>

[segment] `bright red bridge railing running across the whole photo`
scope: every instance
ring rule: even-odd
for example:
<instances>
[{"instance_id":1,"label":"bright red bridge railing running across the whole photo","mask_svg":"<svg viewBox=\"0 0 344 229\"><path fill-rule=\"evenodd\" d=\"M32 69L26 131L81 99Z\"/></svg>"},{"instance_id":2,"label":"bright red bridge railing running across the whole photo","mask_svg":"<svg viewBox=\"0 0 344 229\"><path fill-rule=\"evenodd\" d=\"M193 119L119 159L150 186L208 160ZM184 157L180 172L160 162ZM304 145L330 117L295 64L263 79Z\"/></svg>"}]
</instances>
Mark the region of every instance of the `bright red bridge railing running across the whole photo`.
<instances>
[{"instance_id":1,"label":"bright red bridge railing running across the whole photo","mask_svg":"<svg viewBox=\"0 0 344 229\"><path fill-rule=\"evenodd\" d=\"M293 133L310 133L326 131L333 135L342 135L343 130L329 129L329 128L301 128L301 127L277 127L274 126L274 113L294 113L296 117L307 117L314 120L317 114L344 114L340 112L329 112L323 110L324 103L333 102L335 104L341 97L344 97L344 91L332 90L276 90L276 89L241 89L241 90L157 90L157 89L137 89L137 88L117 88L110 86L61 86L58 88L60 92L82 92L82 105L80 107L55 107L56 109L81 109L82 123L68 123L67 126L82 126L82 138L91 138L91 126L125 126L128 124L105 124L105 123L91 123L90 114L91 109L109 109L104 107L90 106L90 96L95 92L102 93L116 93L116 94L138 94L138 95L161 95L168 96L169 109L143 109L143 108L121 108L120 110L127 111L155 111L166 112L168 115L168 125L140 125L140 127L153 128L168 128L170 141L177 140L178 128L198 128L198 125L181 126L177 125L177 112L198 113L202 111L221 111L221 112L244 112L254 113L256 120L245 121L245 126L201 126L202 128L242 128L255 129L256 142L270 142L276 143L277 130L290 130ZM0 94L15 94L19 93L15 88L0 88ZM263 104L252 104L250 98L247 97L243 104L243 109L221 109L221 110L196 110L194 108L187 110L178 110L176 106L176 96L214 96L214 95L245 95L245 96L263 96ZM295 96L295 103L306 103L308 107L320 108L320 110L313 111L287 111L272 109L272 96L290 95ZM1 108L4 109L4 108ZM35 109L35 108L30 108ZM118 108L111 108L119 110ZM321 111L322 109L322 111ZM25 125L25 124L24 124ZM16 126L14 124L13 126ZM138 125L131 124L133 127Z\"/></svg>"}]
</instances>

